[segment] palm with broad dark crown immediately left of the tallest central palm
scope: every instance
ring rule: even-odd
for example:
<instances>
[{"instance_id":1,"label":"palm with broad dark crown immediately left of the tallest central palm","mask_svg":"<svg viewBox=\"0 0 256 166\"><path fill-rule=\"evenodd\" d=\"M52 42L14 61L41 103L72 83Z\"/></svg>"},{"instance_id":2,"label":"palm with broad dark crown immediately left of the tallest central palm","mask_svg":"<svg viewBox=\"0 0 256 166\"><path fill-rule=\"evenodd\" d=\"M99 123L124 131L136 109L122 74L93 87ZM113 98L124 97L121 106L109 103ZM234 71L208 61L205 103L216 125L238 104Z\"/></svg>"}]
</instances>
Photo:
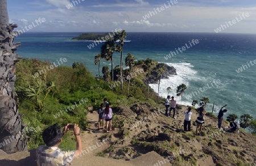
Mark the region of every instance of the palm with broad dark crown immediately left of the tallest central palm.
<instances>
[{"instance_id":1,"label":"palm with broad dark crown immediately left of the tallest central palm","mask_svg":"<svg viewBox=\"0 0 256 166\"><path fill-rule=\"evenodd\" d=\"M115 50L117 50L117 44L115 44L113 39L105 41L104 45L101 46L102 58L106 59L106 61L111 61L112 82L114 82L113 53Z\"/></svg>"}]
</instances>

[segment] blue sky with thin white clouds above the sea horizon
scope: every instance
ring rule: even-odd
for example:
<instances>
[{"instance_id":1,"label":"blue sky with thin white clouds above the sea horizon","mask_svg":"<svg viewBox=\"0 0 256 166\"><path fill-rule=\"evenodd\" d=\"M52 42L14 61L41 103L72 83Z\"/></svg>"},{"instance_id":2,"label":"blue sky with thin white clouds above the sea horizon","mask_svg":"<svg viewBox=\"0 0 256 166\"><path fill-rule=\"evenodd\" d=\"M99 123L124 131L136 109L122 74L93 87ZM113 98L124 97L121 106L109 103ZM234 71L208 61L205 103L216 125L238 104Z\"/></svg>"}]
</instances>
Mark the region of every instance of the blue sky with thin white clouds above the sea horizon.
<instances>
[{"instance_id":1,"label":"blue sky with thin white clouds above the sea horizon","mask_svg":"<svg viewBox=\"0 0 256 166\"><path fill-rule=\"evenodd\" d=\"M256 33L255 0L7 0L7 10L23 32Z\"/></svg>"}]
</instances>

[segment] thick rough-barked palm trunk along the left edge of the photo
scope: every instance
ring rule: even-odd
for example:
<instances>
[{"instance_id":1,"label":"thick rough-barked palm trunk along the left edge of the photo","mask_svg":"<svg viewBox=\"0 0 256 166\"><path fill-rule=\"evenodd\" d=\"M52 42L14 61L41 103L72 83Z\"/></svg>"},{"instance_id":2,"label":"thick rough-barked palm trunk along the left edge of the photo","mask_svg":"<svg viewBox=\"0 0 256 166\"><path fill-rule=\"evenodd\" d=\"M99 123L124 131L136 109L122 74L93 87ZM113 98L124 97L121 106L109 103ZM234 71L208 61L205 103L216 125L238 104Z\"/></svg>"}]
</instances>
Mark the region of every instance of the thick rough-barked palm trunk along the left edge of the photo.
<instances>
[{"instance_id":1,"label":"thick rough-barked palm trunk along the left edge of the photo","mask_svg":"<svg viewBox=\"0 0 256 166\"><path fill-rule=\"evenodd\" d=\"M15 63L21 59L14 53L16 46L19 46L19 42L14 42L14 37L19 33L13 32L18 25L9 24L6 0L0 0L0 11L0 142L9 140L8 146L1 146L1 149L12 154L27 150L27 138L23 135L22 116L14 90Z\"/></svg>"}]
</instances>

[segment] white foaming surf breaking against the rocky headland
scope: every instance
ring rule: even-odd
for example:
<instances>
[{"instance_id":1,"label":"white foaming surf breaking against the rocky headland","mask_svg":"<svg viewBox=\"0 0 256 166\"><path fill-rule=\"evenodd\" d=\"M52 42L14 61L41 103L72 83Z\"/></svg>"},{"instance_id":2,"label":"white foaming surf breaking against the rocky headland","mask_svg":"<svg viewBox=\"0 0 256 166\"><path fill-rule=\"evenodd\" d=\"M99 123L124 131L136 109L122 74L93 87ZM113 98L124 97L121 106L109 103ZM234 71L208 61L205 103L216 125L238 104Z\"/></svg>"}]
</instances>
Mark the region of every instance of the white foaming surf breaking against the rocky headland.
<instances>
[{"instance_id":1,"label":"white foaming surf breaking against the rocky headland","mask_svg":"<svg viewBox=\"0 0 256 166\"><path fill-rule=\"evenodd\" d=\"M170 96L175 96L177 104L181 104L181 96L176 95L177 86L180 84L185 84L187 87L189 86L189 82L191 80L200 80L197 78L197 71L193 70L194 67L191 63L166 63L169 66L174 66L176 69L177 75L169 76L169 79L161 79L159 86L159 96L167 97L168 91L167 87L171 87L171 91L169 92ZM158 84L150 84L150 87L157 93L158 92ZM185 98L183 96L183 105L191 105L190 102L184 101Z\"/></svg>"}]
</instances>

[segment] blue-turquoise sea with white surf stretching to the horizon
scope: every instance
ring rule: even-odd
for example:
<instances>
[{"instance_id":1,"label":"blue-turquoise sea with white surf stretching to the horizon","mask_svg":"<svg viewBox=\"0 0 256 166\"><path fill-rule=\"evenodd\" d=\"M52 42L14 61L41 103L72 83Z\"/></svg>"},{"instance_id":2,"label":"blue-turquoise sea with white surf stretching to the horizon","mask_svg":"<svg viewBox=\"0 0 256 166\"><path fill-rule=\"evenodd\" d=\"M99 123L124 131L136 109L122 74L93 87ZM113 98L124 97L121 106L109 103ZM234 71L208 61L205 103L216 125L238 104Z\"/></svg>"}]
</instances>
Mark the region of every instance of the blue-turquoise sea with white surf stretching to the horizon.
<instances>
[{"instance_id":1,"label":"blue-turquoise sea with white surf stretching to the horizon","mask_svg":"<svg viewBox=\"0 0 256 166\"><path fill-rule=\"evenodd\" d=\"M94 65L94 56L100 53L101 44L96 43L89 49L92 41L71 40L80 34L26 32L15 38L22 44L16 53L23 58L50 62L67 58L67 62L63 63L67 66L83 62L96 75L98 66ZM205 96L210 99L207 112L212 112L214 103L213 113L217 115L220 108L228 104L225 117L232 113L238 116L247 113L256 118L256 35L127 32L126 40L131 42L125 42L124 56L131 53L136 60L151 58L176 68L177 75L161 80L160 96L166 97L166 88L171 87L169 94L176 97L178 104L191 105L192 100L199 101ZM198 40L197 43L195 40ZM114 54L113 59L114 66L119 65L120 55ZM110 66L110 62L102 60L101 67L104 65ZM176 87L181 83L187 86L182 101L175 95ZM157 92L156 84L150 86Z\"/></svg>"}]
</instances>

